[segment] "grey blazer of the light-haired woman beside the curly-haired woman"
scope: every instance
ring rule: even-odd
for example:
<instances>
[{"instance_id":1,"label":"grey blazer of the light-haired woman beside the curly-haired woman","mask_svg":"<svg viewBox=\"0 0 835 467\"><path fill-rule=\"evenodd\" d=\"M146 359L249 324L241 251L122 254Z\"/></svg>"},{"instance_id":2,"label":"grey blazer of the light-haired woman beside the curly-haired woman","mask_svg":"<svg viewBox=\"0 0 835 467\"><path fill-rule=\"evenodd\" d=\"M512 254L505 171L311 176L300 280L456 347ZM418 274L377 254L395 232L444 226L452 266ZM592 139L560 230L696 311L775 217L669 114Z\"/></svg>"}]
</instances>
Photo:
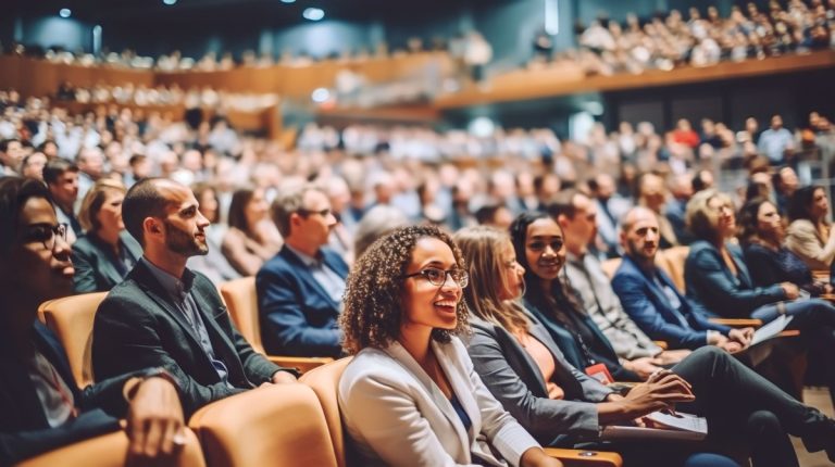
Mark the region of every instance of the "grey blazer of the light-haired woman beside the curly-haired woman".
<instances>
[{"instance_id":1,"label":"grey blazer of the light-haired woman beside the curly-haired woman","mask_svg":"<svg viewBox=\"0 0 835 467\"><path fill-rule=\"evenodd\" d=\"M532 315L528 332L553 356L553 382L564 400L548 399L546 381L534 358L507 329L470 315L473 333L468 351L476 373L504 408L544 445L571 445L596 438L597 404L613 391L577 370L562 356L548 330Z\"/></svg>"}]
</instances>

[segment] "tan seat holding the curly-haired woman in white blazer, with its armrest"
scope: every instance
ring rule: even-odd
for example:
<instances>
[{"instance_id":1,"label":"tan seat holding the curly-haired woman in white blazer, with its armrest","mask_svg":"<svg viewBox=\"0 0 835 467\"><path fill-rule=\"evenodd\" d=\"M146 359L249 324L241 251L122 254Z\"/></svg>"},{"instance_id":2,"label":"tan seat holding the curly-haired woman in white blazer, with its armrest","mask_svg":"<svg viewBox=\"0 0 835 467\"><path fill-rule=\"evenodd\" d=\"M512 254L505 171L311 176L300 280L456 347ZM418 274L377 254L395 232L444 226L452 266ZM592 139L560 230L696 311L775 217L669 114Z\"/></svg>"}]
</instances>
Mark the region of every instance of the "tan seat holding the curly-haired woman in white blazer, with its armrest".
<instances>
[{"instance_id":1,"label":"tan seat holding the curly-haired woman in white blazer, with its armrest","mask_svg":"<svg viewBox=\"0 0 835 467\"><path fill-rule=\"evenodd\" d=\"M300 381L313 389L322 408L325 412L327 429L331 431L331 441L333 451L336 453L338 467L351 467L358 465L354 456L349 450L350 443L345 441L345 431L341 416L339 414L339 404L337 402L337 386L342 371L350 363L351 357L340 358L328 363L302 375ZM585 451L585 450L564 450L548 447L546 452L551 457L562 460L565 467L620 467L623 465L621 455L618 453Z\"/></svg>"}]
</instances>

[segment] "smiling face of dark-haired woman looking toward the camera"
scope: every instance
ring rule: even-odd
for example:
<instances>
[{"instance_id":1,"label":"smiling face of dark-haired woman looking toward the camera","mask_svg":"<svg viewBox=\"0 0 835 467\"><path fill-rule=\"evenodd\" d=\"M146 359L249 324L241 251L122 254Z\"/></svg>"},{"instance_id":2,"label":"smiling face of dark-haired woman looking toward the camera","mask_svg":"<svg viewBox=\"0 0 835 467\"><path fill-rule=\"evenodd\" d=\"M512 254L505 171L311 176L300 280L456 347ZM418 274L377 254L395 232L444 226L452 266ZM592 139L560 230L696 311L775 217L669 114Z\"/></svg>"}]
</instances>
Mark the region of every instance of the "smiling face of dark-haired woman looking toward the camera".
<instances>
[{"instance_id":1,"label":"smiling face of dark-haired woman looking toward the camera","mask_svg":"<svg viewBox=\"0 0 835 467\"><path fill-rule=\"evenodd\" d=\"M565 263L562 229L550 217L534 220L525 234L525 260L531 272L541 279L553 280Z\"/></svg>"}]
</instances>

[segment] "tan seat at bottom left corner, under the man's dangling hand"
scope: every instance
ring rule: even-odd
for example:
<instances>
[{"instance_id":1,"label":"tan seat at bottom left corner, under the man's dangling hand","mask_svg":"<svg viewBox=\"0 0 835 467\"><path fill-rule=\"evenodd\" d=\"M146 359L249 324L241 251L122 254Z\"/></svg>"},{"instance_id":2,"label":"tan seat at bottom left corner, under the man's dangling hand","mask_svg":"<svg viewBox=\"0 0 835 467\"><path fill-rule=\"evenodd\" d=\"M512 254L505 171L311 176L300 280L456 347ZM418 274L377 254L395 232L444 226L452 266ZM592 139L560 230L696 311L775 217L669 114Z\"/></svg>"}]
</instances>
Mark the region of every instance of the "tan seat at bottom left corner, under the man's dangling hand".
<instances>
[{"instance_id":1,"label":"tan seat at bottom left corner, under the man's dangling hand","mask_svg":"<svg viewBox=\"0 0 835 467\"><path fill-rule=\"evenodd\" d=\"M186 429L186 444L175 459L166 463L171 467L204 467L203 452L195 433ZM122 467L128 465L128 439L124 431L102 434L79 441L48 453L26 459L17 467ZM133 465L133 464L132 464Z\"/></svg>"}]
</instances>

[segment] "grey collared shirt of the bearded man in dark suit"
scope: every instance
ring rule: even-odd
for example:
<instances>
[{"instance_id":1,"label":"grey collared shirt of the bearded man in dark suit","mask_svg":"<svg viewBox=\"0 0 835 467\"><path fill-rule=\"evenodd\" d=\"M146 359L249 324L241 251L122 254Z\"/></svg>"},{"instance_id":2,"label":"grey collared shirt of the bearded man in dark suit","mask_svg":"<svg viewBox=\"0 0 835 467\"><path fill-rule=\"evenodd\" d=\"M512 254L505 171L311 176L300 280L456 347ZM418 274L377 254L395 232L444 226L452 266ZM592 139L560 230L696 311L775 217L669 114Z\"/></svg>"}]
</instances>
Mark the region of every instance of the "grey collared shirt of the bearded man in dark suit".
<instances>
[{"instance_id":1,"label":"grey collared shirt of the bearded man in dark suit","mask_svg":"<svg viewBox=\"0 0 835 467\"><path fill-rule=\"evenodd\" d=\"M219 359L214 355L214 349L212 348L212 341L209 338L209 331L207 330L205 324L200 317L197 302L195 302L195 298L191 296L191 285L195 280L195 274L188 269L185 269L183 273L183 279L180 280L154 266L145 256L142 256L140 261L145 263L146 266L148 266L148 269L151 272L153 277L157 278L157 280L160 282L160 286L162 286L165 292L167 292L172 304L183 313L188 324L191 325L191 329L196 332L196 337L200 342L200 346L212 362L212 366L214 367L215 371L217 371L217 376L221 378L221 381L224 381L226 384L232 387L228 381L228 369L226 368L226 364L224 364L223 361Z\"/></svg>"}]
</instances>

